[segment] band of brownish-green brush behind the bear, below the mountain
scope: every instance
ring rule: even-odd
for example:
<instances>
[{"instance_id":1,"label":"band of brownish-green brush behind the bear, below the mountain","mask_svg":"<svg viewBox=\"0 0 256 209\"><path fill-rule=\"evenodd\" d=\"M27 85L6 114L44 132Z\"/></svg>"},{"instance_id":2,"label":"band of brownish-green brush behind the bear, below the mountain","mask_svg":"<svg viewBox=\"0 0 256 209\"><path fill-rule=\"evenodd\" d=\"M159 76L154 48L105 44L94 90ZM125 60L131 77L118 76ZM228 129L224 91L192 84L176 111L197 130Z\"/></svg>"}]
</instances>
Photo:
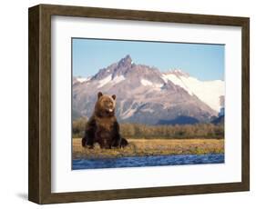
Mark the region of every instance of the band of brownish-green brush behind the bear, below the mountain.
<instances>
[{"instance_id":1,"label":"band of brownish-green brush behind the bear, below the mountain","mask_svg":"<svg viewBox=\"0 0 256 209\"><path fill-rule=\"evenodd\" d=\"M73 121L73 137L83 137L87 118ZM121 134L133 139L223 139L223 124L120 124Z\"/></svg>"}]
</instances>

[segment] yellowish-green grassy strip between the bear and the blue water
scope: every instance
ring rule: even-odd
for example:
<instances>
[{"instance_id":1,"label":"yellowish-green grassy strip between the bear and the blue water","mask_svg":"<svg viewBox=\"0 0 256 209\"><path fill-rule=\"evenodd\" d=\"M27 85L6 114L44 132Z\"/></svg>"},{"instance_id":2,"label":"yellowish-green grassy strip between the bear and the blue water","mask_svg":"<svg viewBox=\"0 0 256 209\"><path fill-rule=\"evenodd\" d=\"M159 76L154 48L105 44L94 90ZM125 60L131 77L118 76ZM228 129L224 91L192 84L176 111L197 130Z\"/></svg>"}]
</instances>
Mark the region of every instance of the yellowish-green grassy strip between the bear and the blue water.
<instances>
[{"instance_id":1,"label":"yellowish-green grassy strip between the bear and the blue water","mask_svg":"<svg viewBox=\"0 0 256 209\"><path fill-rule=\"evenodd\" d=\"M128 139L125 148L94 149L81 145L81 138L73 139L73 159L149 156L164 154L223 154L223 139Z\"/></svg>"}]
</instances>

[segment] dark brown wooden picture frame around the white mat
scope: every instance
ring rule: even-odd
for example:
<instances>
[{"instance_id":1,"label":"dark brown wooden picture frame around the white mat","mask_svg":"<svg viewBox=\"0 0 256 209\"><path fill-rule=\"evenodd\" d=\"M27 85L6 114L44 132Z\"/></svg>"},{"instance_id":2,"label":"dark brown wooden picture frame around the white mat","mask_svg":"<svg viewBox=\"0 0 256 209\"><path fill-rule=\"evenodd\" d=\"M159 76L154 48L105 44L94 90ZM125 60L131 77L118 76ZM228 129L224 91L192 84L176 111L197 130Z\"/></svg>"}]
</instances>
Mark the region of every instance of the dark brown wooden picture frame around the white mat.
<instances>
[{"instance_id":1,"label":"dark brown wooden picture frame around the white mat","mask_svg":"<svg viewBox=\"0 0 256 209\"><path fill-rule=\"evenodd\" d=\"M241 183L197 184L104 191L51 192L51 16L200 25L241 26L242 125ZM106 8L36 5L29 8L29 153L28 199L37 204L210 194L250 190L250 19L219 15L190 15ZM85 188L86 189L86 188Z\"/></svg>"}]
</instances>

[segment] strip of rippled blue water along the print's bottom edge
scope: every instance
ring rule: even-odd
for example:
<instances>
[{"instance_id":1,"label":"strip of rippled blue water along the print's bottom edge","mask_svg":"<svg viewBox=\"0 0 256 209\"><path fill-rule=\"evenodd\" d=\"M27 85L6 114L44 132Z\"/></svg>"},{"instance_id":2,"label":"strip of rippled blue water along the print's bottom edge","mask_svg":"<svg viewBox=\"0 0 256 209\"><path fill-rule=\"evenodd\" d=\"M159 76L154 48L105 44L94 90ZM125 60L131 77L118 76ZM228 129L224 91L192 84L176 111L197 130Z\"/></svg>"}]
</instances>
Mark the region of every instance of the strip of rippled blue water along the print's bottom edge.
<instances>
[{"instance_id":1,"label":"strip of rippled blue water along the print's bottom edge","mask_svg":"<svg viewBox=\"0 0 256 209\"><path fill-rule=\"evenodd\" d=\"M72 163L73 170L178 164L222 164L224 163L224 154L179 154L108 159L75 159Z\"/></svg>"}]
</instances>

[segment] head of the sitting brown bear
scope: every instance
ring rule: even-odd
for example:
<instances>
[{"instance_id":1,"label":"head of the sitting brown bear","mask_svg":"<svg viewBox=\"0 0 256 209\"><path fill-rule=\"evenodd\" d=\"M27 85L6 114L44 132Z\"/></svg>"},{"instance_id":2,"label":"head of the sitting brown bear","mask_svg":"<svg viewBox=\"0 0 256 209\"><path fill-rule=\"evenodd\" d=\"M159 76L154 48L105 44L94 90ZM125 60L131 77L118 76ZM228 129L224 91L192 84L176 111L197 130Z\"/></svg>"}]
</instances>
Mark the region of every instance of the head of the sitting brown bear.
<instances>
[{"instance_id":1,"label":"head of the sitting brown bear","mask_svg":"<svg viewBox=\"0 0 256 209\"><path fill-rule=\"evenodd\" d=\"M95 112L97 116L114 116L115 108L116 95L103 95L101 92L97 93L97 103L95 105Z\"/></svg>"}]
</instances>

